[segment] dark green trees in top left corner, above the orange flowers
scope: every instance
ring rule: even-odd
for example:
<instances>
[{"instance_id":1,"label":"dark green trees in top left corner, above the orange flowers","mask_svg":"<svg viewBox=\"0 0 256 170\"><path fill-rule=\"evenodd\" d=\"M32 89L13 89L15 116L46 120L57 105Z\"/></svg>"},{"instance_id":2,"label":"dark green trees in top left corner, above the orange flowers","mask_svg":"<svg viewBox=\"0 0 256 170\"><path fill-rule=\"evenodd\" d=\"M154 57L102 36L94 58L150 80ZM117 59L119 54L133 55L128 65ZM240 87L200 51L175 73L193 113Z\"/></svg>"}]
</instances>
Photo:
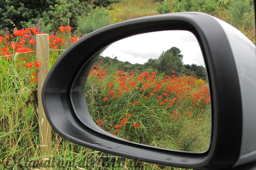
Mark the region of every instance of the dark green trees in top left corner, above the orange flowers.
<instances>
[{"instance_id":1,"label":"dark green trees in top left corner, above the orange flowers","mask_svg":"<svg viewBox=\"0 0 256 170\"><path fill-rule=\"evenodd\" d=\"M5 19L10 19L17 29L33 27L41 21L41 30L50 33L59 26L77 27L77 18L96 7L111 8L119 0L4 0L0 3L0 29L14 26Z\"/></svg>"}]
</instances>

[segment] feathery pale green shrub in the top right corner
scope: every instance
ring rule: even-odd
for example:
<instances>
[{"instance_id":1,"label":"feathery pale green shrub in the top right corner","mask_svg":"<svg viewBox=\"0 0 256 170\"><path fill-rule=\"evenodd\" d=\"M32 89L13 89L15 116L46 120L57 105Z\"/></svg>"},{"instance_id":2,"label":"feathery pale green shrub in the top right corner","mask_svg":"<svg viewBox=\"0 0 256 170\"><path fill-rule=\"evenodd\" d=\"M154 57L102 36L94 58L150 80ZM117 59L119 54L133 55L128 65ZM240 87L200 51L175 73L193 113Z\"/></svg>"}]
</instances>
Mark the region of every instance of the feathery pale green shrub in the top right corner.
<instances>
[{"instance_id":1,"label":"feathery pale green shrub in the top right corner","mask_svg":"<svg viewBox=\"0 0 256 170\"><path fill-rule=\"evenodd\" d=\"M226 12L229 12L226 10ZM239 29L249 29L254 26L253 5L249 1L235 0L230 2L230 18L226 21Z\"/></svg>"}]
</instances>

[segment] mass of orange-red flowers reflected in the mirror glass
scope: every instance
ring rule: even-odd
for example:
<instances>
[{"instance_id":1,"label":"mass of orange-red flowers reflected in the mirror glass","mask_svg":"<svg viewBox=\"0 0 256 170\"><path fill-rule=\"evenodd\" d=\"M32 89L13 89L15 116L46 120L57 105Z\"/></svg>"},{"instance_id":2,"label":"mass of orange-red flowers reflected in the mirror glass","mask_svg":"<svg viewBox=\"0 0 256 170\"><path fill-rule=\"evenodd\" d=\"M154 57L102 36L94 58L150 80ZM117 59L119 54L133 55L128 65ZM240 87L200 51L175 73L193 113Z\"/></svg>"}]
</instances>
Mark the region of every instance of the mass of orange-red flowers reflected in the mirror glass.
<instances>
[{"instance_id":1,"label":"mass of orange-red flowers reflected in the mirror glass","mask_svg":"<svg viewBox=\"0 0 256 170\"><path fill-rule=\"evenodd\" d=\"M197 115L201 114L197 114L198 110L207 109L205 107L209 106L210 97L207 82L198 84L198 79L193 76L161 76L161 74L157 75L156 72L138 73L137 71L129 71L129 73L125 72L126 68L118 68L117 72L108 74L108 72L104 71L106 64L103 65L101 64L102 62L103 60L99 60L98 64L94 64L89 78L103 83L104 89L106 89L106 93L103 94L106 95L103 102L111 100L111 102L116 101L118 103L118 100L126 100L125 95L129 95L129 99L127 98L127 100L131 99L132 102L129 101L131 104L127 106L134 106L134 108L132 108L133 111L138 112L140 106L147 105L148 103L157 103L159 108L166 109L167 112L169 112L169 114L167 114L169 115L169 120L173 121L192 117L192 115L193 118L200 118L202 116L197 117ZM176 72L172 71L172 74L174 73ZM112 76L113 79L110 78ZM130 94L136 95L131 96ZM148 99L150 99L150 102ZM108 102L103 103L103 105L107 104ZM121 105L123 105L123 103L120 104L120 106ZM179 109L179 107L177 107L179 105L186 105L186 109L190 111ZM132 119L132 121L129 121L129 119ZM134 122L134 120L138 121L136 113L132 112L132 115L126 114L125 118L122 118L117 125L112 127L116 131L115 134L117 134L118 131L122 131L124 125ZM151 114L149 120L153 120L151 119ZM134 123L132 126L136 128L141 125Z\"/></svg>"}]
</instances>

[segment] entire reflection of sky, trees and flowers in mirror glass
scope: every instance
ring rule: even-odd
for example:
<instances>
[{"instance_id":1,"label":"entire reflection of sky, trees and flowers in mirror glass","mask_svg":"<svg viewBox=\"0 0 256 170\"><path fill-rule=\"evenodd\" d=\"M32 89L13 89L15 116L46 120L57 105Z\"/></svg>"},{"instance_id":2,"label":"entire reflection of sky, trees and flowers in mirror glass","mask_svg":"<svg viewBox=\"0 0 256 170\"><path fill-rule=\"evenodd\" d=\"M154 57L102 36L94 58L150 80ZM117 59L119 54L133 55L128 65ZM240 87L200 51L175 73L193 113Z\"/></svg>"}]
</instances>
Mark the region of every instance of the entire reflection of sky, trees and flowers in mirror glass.
<instances>
[{"instance_id":1,"label":"entire reflection of sky, trees and flowers in mirror glass","mask_svg":"<svg viewBox=\"0 0 256 170\"><path fill-rule=\"evenodd\" d=\"M204 152L211 105L202 52L188 31L159 31L113 43L85 85L95 123L134 143Z\"/></svg>"}]
</instances>

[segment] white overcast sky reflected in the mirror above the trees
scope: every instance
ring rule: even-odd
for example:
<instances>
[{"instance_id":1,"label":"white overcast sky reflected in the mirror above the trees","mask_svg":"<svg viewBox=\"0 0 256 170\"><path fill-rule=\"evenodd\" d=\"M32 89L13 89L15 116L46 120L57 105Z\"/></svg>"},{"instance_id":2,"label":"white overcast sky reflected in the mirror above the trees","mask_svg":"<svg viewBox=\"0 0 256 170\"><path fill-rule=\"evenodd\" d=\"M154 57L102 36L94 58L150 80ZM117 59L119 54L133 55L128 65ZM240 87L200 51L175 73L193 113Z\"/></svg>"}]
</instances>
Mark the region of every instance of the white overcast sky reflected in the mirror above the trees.
<instances>
[{"instance_id":1,"label":"white overcast sky reflected in the mirror above the trees","mask_svg":"<svg viewBox=\"0 0 256 170\"><path fill-rule=\"evenodd\" d=\"M158 58L172 47L181 50L184 64L204 65L202 52L195 36L189 31L157 31L121 39L110 45L101 55L117 57L120 61L144 64L149 58Z\"/></svg>"}]
</instances>

